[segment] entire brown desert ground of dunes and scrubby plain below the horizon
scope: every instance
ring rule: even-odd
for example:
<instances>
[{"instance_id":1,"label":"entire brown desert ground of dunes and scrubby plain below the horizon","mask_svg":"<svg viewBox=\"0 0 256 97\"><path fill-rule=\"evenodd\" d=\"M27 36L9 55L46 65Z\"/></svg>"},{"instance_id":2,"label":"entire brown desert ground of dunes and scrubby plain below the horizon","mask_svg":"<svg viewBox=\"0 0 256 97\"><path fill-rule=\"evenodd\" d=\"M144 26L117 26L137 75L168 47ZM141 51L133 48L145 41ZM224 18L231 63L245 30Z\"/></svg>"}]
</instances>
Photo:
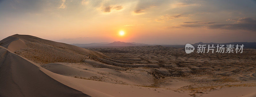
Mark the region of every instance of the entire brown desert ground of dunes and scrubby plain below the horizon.
<instances>
[{"instance_id":1,"label":"entire brown desert ground of dunes and scrubby plain below the horizon","mask_svg":"<svg viewBox=\"0 0 256 97\"><path fill-rule=\"evenodd\" d=\"M0 96L256 96L255 49L233 55L186 55L163 46L89 50L18 34L0 45Z\"/></svg>"}]
</instances>

